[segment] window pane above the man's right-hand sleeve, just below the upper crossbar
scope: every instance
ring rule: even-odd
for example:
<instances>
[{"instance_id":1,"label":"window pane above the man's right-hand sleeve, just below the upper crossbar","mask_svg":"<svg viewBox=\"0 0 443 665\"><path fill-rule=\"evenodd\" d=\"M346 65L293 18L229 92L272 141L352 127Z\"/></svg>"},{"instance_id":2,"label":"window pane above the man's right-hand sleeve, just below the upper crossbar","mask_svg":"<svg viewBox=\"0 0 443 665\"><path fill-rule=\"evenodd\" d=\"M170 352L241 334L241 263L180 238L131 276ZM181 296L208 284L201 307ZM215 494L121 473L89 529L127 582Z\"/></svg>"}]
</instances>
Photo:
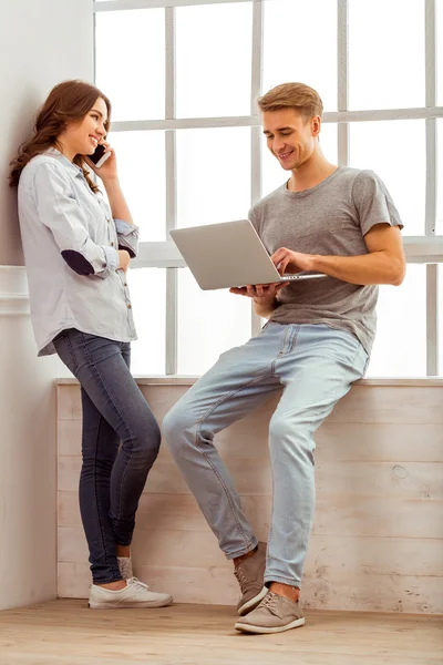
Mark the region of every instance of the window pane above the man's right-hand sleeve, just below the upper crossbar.
<instances>
[{"instance_id":1,"label":"window pane above the man's right-hand sleeve, just below the upper crossbar","mask_svg":"<svg viewBox=\"0 0 443 665\"><path fill-rule=\"evenodd\" d=\"M425 123L358 122L350 129L350 166L374 171L387 185L405 235L424 234Z\"/></svg>"}]
</instances>

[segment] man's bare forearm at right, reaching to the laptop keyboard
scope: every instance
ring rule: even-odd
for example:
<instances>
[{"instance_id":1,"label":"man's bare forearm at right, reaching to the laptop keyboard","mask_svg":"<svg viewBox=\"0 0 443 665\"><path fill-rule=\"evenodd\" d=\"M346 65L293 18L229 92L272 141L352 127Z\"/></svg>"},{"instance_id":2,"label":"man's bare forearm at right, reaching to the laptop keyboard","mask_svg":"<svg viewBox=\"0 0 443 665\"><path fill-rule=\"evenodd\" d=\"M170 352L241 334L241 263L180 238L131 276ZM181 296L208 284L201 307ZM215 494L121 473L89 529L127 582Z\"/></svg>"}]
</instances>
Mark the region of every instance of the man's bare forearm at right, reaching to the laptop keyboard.
<instances>
[{"instance_id":1,"label":"man's bare forearm at right, reaching to the laptop keyboard","mask_svg":"<svg viewBox=\"0 0 443 665\"><path fill-rule=\"evenodd\" d=\"M312 255L312 269L326 273L350 284L392 284L404 277L404 262L387 252L371 252L362 256Z\"/></svg>"}]
</instances>

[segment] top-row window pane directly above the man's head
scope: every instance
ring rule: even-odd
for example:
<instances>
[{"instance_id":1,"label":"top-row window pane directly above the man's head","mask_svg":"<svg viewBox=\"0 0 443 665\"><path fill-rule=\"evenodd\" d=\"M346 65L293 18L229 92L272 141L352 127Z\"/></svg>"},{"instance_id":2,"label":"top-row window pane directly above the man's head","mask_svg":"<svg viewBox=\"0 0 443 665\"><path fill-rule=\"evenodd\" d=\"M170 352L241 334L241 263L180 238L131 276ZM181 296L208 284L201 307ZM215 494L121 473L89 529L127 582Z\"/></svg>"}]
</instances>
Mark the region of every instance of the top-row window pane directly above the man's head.
<instances>
[{"instance_id":1,"label":"top-row window pane directly above the man's head","mask_svg":"<svg viewBox=\"0 0 443 665\"><path fill-rule=\"evenodd\" d=\"M337 2L265 2L262 90L287 81L315 88L337 110Z\"/></svg>"}]
</instances>

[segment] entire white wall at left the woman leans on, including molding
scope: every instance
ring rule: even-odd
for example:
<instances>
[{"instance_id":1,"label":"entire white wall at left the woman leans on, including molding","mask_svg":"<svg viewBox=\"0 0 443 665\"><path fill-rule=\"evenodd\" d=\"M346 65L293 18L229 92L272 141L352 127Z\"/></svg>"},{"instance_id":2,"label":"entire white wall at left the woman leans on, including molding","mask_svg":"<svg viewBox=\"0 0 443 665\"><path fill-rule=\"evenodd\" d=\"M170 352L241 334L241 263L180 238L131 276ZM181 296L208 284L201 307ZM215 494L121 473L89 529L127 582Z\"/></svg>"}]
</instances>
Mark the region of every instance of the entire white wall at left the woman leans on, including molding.
<instances>
[{"instance_id":1,"label":"entire white wall at left the woman leans on, including molding","mask_svg":"<svg viewBox=\"0 0 443 665\"><path fill-rule=\"evenodd\" d=\"M92 0L0 0L0 610L55 596L61 374L37 358L8 164L50 89L92 76Z\"/></svg>"}]
</instances>

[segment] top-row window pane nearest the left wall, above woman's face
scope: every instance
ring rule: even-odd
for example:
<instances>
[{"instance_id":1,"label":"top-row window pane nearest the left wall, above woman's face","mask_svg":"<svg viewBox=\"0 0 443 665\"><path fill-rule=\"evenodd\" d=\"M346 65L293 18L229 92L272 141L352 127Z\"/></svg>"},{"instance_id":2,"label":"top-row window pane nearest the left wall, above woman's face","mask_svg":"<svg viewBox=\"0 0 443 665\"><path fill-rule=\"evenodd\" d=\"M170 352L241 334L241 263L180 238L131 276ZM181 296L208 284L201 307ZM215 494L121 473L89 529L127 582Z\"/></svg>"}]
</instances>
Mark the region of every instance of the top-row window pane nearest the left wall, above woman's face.
<instances>
[{"instance_id":1,"label":"top-row window pane nearest the left wall, above woman's face","mask_svg":"<svg viewBox=\"0 0 443 665\"><path fill-rule=\"evenodd\" d=\"M112 120L164 117L164 9L97 12L95 21L96 83Z\"/></svg>"}]
</instances>

